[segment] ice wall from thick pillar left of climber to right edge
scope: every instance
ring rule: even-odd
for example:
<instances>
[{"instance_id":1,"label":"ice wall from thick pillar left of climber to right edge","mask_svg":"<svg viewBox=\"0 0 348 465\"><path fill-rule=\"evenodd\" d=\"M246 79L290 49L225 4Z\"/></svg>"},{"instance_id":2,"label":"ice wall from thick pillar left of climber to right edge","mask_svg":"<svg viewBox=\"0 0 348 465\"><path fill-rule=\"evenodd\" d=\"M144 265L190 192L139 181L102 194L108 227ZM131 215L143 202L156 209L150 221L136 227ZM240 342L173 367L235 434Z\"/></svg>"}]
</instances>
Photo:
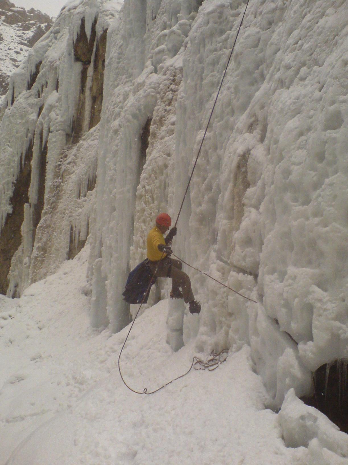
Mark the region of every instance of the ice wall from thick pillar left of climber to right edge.
<instances>
[{"instance_id":1,"label":"ice wall from thick pillar left of climber to right edge","mask_svg":"<svg viewBox=\"0 0 348 465\"><path fill-rule=\"evenodd\" d=\"M244 8L126 0L109 30L90 273L94 321L114 331L147 230L160 211L176 218ZM250 3L174 240L258 300L187 270L196 347L250 344L278 406L347 356L347 28L343 0Z\"/></svg>"}]
</instances>

